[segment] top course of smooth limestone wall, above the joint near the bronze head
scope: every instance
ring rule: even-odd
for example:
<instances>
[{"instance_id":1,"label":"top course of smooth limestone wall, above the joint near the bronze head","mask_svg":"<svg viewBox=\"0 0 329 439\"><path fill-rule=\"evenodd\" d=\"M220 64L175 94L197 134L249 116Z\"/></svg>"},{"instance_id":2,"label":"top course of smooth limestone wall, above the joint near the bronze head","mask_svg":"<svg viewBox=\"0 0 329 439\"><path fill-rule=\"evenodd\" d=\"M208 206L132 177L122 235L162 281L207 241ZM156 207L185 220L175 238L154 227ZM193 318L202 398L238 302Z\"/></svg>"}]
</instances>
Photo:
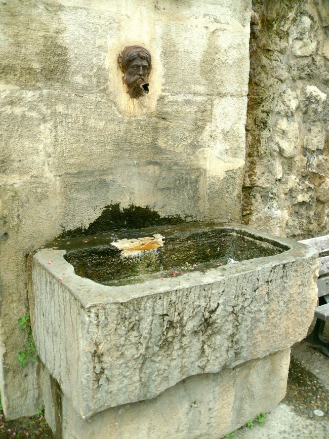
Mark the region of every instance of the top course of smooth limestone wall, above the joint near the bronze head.
<instances>
[{"instance_id":1,"label":"top course of smooth limestone wall, above the joint near the bronze head","mask_svg":"<svg viewBox=\"0 0 329 439\"><path fill-rule=\"evenodd\" d=\"M15 0L2 7L8 38L0 68L8 84L99 91L112 84L113 72L120 75L117 65L111 66L118 53L137 43L154 56L165 91L213 94L215 88L215 94L246 95L250 11L250 0L233 6L227 0L220 5L115 0L111 7ZM115 95L111 88L108 93Z\"/></svg>"}]
</instances>

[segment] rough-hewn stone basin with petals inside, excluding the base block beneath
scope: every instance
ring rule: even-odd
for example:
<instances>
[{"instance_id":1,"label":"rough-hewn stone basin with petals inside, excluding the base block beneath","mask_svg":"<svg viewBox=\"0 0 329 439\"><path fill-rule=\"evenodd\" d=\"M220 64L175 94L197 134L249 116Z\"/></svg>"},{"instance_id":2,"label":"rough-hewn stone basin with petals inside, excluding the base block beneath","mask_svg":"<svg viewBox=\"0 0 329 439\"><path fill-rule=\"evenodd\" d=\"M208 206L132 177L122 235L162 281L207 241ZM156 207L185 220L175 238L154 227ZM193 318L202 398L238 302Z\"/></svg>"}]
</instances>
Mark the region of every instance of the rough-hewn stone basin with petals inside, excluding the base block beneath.
<instances>
[{"instance_id":1,"label":"rough-hewn stone basin with petals inside, excluding the base block beneath","mask_svg":"<svg viewBox=\"0 0 329 439\"><path fill-rule=\"evenodd\" d=\"M33 336L87 419L289 348L312 321L316 277L315 250L241 225L74 238L33 257Z\"/></svg>"}]
</instances>

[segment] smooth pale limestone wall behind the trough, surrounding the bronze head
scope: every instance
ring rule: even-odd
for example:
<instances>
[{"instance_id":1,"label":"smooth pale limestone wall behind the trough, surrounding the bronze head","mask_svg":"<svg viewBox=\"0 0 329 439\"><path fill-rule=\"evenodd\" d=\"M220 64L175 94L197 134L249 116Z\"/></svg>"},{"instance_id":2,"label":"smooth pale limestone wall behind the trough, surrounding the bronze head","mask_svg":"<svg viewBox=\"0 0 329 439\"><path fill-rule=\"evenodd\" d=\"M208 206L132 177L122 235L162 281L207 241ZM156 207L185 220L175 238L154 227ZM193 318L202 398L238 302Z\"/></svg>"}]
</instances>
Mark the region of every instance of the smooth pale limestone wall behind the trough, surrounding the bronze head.
<instances>
[{"instance_id":1,"label":"smooth pale limestone wall behind the trough, surrounding the bronze head","mask_svg":"<svg viewBox=\"0 0 329 439\"><path fill-rule=\"evenodd\" d=\"M104 207L239 220L250 0L0 3L1 393L9 418L42 405L21 369L26 256ZM133 103L118 53L145 46Z\"/></svg>"}]
</instances>

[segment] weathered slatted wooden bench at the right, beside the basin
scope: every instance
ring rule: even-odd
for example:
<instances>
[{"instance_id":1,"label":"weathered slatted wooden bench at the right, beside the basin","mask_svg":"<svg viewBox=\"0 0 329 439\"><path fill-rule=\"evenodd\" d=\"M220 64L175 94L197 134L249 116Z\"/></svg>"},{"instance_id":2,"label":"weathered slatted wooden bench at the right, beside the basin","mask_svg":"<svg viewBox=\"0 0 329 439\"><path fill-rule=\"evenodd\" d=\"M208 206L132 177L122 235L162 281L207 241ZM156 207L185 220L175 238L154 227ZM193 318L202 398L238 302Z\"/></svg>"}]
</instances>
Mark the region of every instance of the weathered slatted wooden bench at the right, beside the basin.
<instances>
[{"instance_id":1,"label":"weathered slatted wooden bench at the right, beside the basin","mask_svg":"<svg viewBox=\"0 0 329 439\"><path fill-rule=\"evenodd\" d=\"M319 306L315 308L316 323L313 331L306 337L306 343L329 356L329 340L323 336L325 322L329 320L329 235L300 241L319 252L319 277L317 296Z\"/></svg>"}]
</instances>

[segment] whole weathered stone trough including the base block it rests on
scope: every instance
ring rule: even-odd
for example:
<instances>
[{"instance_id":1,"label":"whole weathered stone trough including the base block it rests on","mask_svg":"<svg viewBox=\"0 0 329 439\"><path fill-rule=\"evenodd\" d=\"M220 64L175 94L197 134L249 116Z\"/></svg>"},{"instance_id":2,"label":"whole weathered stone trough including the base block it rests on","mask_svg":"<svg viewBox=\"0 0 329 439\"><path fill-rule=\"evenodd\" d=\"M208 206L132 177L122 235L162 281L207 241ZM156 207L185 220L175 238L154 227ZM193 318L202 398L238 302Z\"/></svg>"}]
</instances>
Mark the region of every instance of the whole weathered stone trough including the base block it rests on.
<instances>
[{"instance_id":1,"label":"whole weathered stone trough including the base block it rests on","mask_svg":"<svg viewBox=\"0 0 329 439\"><path fill-rule=\"evenodd\" d=\"M49 424L64 438L218 439L271 410L316 277L316 251L240 225L40 250L30 303Z\"/></svg>"}]
</instances>

